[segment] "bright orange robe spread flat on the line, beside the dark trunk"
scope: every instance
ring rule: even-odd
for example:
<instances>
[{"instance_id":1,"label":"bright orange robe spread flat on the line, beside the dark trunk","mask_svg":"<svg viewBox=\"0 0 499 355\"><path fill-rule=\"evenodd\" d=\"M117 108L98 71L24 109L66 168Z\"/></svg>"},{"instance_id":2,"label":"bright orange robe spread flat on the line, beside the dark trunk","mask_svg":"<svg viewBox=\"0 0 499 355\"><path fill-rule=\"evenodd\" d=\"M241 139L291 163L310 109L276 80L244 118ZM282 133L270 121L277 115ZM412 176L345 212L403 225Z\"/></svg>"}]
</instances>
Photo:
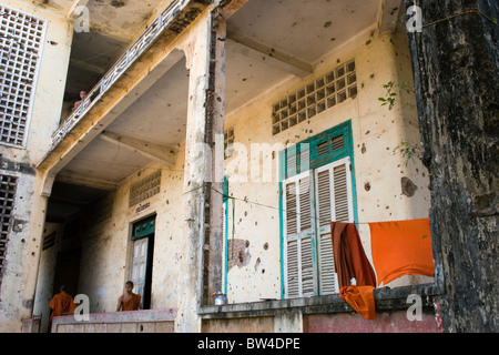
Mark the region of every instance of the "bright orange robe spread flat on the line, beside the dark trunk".
<instances>
[{"instance_id":1,"label":"bright orange robe spread flat on the line, beside the dark trunk","mask_svg":"<svg viewBox=\"0 0 499 355\"><path fill-rule=\"evenodd\" d=\"M434 276L429 220L369 223L378 285L404 275Z\"/></svg>"}]
</instances>

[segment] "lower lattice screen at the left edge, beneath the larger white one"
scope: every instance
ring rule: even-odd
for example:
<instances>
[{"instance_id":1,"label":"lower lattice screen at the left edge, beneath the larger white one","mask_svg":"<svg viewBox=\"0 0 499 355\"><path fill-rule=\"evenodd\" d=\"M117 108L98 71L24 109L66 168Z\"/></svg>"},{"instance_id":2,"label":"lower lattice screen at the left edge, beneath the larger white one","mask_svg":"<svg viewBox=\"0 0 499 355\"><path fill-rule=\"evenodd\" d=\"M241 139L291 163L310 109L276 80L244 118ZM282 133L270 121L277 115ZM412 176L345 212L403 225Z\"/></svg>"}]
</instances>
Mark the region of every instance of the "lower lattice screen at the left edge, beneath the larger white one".
<instances>
[{"instance_id":1,"label":"lower lattice screen at the left edge, beneath the larger white one","mask_svg":"<svg viewBox=\"0 0 499 355\"><path fill-rule=\"evenodd\" d=\"M7 255L7 242L9 241L9 232L11 229L17 183L18 179L14 176L0 175L0 222L2 225L0 234L0 282Z\"/></svg>"}]
</instances>

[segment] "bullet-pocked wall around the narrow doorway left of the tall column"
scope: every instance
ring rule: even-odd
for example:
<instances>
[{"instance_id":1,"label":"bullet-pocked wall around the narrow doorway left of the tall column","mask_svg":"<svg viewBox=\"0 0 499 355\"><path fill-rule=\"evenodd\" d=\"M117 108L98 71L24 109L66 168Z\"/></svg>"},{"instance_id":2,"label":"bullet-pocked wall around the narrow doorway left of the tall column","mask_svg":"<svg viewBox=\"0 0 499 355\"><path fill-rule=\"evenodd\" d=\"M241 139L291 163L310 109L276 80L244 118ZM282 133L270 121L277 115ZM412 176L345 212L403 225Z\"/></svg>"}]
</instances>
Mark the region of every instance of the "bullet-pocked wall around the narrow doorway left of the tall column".
<instances>
[{"instance_id":1,"label":"bullet-pocked wall around the narrow doorway left of the tall column","mask_svg":"<svg viewBox=\"0 0 499 355\"><path fill-rule=\"evenodd\" d=\"M159 193L142 203L130 203L130 186L161 172ZM152 265L151 308L174 308L179 290L175 280L181 272L183 255L182 162L174 169L152 164L120 184L112 203L112 216L89 225L82 243L79 290L89 295L91 312L114 312L124 282L132 278L132 226L141 220L156 215L154 227L154 256Z\"/></svg>"}]
</instances>

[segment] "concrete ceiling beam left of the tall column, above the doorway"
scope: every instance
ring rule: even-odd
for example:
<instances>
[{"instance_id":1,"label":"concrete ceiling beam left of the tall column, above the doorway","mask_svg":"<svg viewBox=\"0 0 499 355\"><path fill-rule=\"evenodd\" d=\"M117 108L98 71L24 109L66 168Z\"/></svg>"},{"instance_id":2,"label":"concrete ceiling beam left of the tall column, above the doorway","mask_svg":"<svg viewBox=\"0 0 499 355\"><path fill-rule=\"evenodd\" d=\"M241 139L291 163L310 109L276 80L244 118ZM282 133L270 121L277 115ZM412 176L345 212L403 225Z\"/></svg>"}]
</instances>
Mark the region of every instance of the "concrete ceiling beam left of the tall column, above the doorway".
<instances>
[{"instance_id":1,"label":"concrete ceiling beam left of the tall column, above the doorway","mask_svg":"<svg viewBox=\"0 0 499 355\"><path fill-rule=\"evenodd\" d=\"M151 143L144 140L119 135L108 131L102 132L100 138L106 142L129 149L162 164L169 166L173 166L175 164L176 149L172 146Z\"/></svg>"}]
</instances>

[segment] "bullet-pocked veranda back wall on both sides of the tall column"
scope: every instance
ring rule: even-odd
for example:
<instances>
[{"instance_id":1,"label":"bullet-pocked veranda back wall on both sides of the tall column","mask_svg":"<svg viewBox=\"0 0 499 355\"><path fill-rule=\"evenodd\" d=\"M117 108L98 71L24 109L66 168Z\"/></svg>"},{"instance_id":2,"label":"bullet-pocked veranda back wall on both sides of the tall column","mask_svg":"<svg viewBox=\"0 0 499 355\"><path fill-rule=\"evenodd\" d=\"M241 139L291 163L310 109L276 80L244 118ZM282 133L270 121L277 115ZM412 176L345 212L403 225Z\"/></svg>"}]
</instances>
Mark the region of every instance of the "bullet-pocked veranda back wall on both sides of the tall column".
<instances>
[{"instance_id":1,"label":"bullet-pocked veranda back wall on both sides of the tall column","mask_svg":"<svg viewBox=\"0 0 499 355\"><path fill-rule=\"evenodd\" d=\"M187 34L195 36L196 32ZM400 144L401 139L413 144L419 142L417 112L410 91L411 67L405 36L379 34L376 30L359 33L337 52L317 63L309 77L292 78L279 83L226 115L225 126L234 129L236 149L237 144L241 144L251 153L252 143L267 144L269 148L257 159L252 155L240 156L236 153L225 161L228 195L234 197L225 204L225 252L228 262L224 285L230 303L282 297L277 176L279 149L287 144L299 143L349 121L358 221L396 221L428 216L430 201L425 168L417 159L414 163L408 162L406 166L403 155L394 154L394 149ZM187 55L187 65L189 59ZM273 134L275 102L324 77L339 63L350 60L355 60L356 64L356 95L310 120ZM378 100L386 94L384 84L390 81L396 88L403 83L407 84L407 89L399 93L391 109L383 106ZM181 207L185 203L185 146L181 144L174 166L154 163L122 181L118 190L109 196L110 215L104 220L89 219L84 223L79 242L81 262L78 292L89 296L92 313L115 311L118 297L123 292L123 283L132 276L132 226L152 215L156 219L151 307L175 308L181 303L184 291L180 290L179 280L185 275L190 262L186 260L189 245L184 237L187 223ZM242 160L246 160L247 164L241 163ZM258 172L244 170L244 166L254 166L252 160L256 161ZM273 166L269 174L265 170L268 162ZM131 186L157 171L161 171L160 191L144 201L131 204ZM267 181L268 176L271 181ZM366 225L360 225L359 232L370 257L369 231ZM53 254L47 252L42 257L42 267L53 267L49 261L54 257ZM45 280L50 278L42 271L40 275L44 275ZM416 278L418 277L404 277L390 285L424 281ZM41 306L47 305L40 304Z\"/></svg>"}]
</instances>

